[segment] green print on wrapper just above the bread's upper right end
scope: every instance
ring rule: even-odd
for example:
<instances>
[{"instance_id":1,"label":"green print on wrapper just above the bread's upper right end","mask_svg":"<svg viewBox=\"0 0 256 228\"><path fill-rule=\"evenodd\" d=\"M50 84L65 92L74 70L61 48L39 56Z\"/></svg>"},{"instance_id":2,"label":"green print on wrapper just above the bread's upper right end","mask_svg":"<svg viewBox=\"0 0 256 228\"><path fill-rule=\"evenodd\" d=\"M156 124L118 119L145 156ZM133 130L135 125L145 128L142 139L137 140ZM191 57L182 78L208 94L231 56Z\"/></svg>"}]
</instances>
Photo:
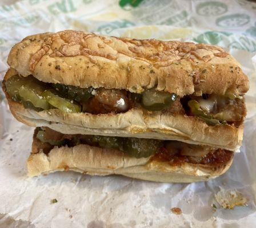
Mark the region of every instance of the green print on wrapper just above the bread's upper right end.
<instances>
[{"instance_id":1,"label":"green print on wrapper just above the bread's upper right end","mask_svg":"<svg viewBox=\"0 0 256 228\"><path fill-rule=\"evenodd\" d=\"M229 36L231 33L229 32L215 32L215 31L207 31L203 34L194 38L194 41L197 43L209 43L216 45L223 39L223 36Z\"/></svg>"}]
</instances>

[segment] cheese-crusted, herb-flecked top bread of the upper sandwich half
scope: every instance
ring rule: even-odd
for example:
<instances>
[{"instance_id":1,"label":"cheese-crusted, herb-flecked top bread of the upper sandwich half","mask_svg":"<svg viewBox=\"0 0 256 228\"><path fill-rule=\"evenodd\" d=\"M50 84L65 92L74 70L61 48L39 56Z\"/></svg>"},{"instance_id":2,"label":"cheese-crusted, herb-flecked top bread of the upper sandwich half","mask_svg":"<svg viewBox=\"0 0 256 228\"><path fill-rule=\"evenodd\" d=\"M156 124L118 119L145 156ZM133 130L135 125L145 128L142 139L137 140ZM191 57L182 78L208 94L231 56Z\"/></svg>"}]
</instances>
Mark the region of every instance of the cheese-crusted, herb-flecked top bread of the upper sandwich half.
<instances>
[{"instance_id":1,"label":"cheese-crusted, herb-flecked top bread of the upper sandwich half","mask_svg":"<svg viewBox=\"0 0 256 228\"><path fill-rule=\"evenodd\" d=\"M156 87L179 96L247 92L237 60L223 48L138 40L66 30L27 36L10 51L10 67L49 83L142 92Z\"/></svg>"}]
</instances>

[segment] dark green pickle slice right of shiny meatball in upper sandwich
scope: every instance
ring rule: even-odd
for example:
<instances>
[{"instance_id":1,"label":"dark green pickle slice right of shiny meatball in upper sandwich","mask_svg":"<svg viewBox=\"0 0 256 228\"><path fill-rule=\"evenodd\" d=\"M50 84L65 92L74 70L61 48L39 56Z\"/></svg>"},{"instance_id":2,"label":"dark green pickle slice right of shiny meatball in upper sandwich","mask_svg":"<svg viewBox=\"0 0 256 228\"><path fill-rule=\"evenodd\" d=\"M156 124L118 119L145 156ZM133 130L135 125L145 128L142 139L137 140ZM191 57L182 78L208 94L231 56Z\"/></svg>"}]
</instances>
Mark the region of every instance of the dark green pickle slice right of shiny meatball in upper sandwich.
<instances>
[{"instance_id":1,"label":"dark green pickle slice right of shiny meatball in upper sandwich","mask_svg":"<svg viewBox=\"0 0 256 228\"><path fill-rule=\"evenodd\" d=\"M161 111L177 100L175 93L157 91L155 88L146 89L142 93L141 104L149 111Z\"/></svg>"}]
</instances>

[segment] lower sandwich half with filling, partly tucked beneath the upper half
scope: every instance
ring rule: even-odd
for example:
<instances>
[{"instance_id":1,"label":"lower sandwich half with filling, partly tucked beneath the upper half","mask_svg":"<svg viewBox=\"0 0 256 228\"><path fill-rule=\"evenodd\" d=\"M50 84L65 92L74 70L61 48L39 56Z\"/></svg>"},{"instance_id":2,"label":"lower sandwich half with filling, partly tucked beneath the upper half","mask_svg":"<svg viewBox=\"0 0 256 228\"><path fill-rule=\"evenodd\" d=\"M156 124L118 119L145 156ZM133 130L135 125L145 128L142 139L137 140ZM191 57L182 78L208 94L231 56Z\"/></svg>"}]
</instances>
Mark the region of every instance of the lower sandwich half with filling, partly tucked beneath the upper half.
<instances>
[{"instance_id":1,"label":"lower sandwich half with filling, partly tucked beneath the upper half","mask_svg":"<svg viewBox=\"0 0 256 228\"><path fill-rule=\"evenodd\" d=\"M29 176L74 170L157 182L195 182L229 169L234 152L179 141L62 134L36 128Z\"/></svg>"}]
</instances>

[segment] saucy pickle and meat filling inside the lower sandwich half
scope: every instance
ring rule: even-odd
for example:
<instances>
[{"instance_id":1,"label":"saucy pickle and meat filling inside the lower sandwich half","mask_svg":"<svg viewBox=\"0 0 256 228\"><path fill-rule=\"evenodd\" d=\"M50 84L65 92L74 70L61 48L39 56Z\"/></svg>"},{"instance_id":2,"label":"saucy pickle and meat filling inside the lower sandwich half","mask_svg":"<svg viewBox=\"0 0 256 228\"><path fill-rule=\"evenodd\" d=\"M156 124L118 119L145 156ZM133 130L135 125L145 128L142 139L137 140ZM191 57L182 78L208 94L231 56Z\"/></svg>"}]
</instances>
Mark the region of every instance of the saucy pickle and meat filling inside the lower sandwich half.
<instances>
[{"instance_id":1,"label":"saucy pickle and meat filling inside the lower sandwich half","mask_svg":"<svg viewBox=\"0 0 256 228\"><path fill-rule=\"evenodd\" d=\"M233 157L233 152L225 149L214 149L210 146L190 145L179 141L138 139L126 137L69 135L62 134L47 127L35 130L35 140L38 153L48 154L54 146L73 147L87 144L100 148L120 150L127 156L168 162L170 165L180 165L183 162L191 164L210 165L218 167L227 164Z\"/></svg>"}]
</instances>

